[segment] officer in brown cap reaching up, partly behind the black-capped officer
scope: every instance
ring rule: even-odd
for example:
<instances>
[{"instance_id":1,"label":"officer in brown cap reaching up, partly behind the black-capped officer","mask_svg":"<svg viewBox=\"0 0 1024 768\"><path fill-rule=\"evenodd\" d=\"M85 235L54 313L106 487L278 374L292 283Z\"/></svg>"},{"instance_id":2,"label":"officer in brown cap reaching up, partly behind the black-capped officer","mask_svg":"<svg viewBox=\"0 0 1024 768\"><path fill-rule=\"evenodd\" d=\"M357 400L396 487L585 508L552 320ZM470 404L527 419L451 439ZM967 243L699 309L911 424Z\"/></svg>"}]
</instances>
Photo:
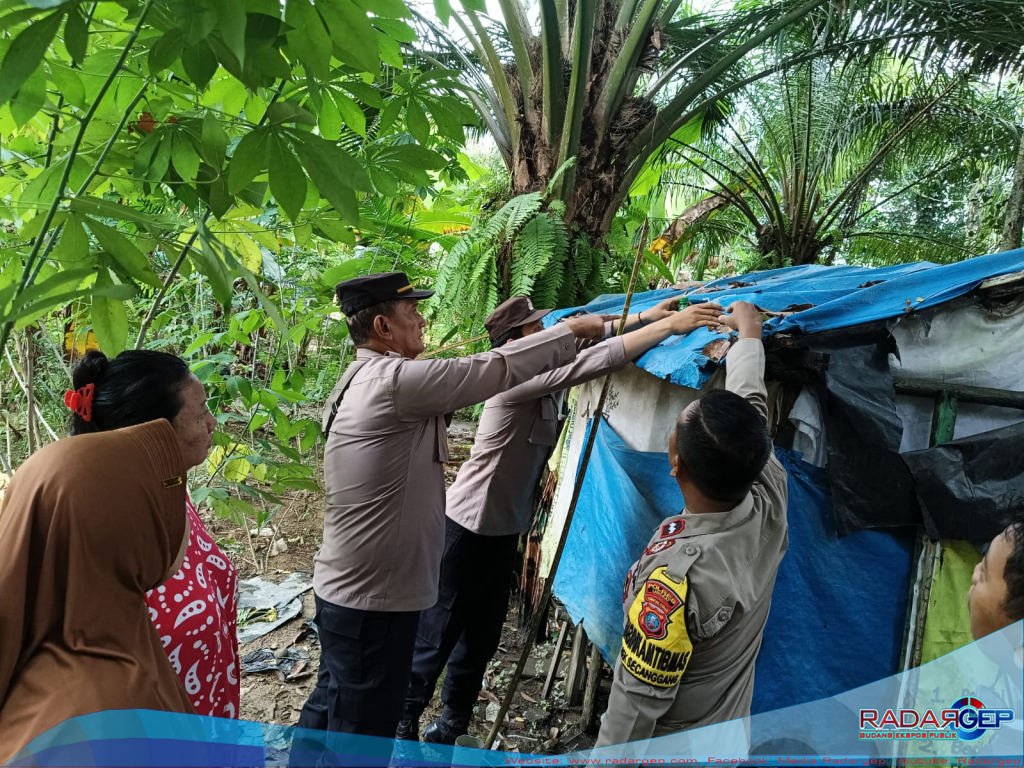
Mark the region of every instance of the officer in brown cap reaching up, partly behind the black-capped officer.
<instances>
[{"instance_id":1,"label":"officer in brown cap reaching up, partly behind the black-capped officer","mask_svg":"<svg viewBox=\"0 0 1024 768\"><path fill-rule=\"evenodd\" d=\"M529 527L541 470L558 437L556 393L622 369L672 335L718 325L722 312L717 304L682 312L675 311L678 305L678 299L669 299L630 315L626 329L632 333L585 349L575 362L484 403L472 455L449 488L440 589L437 604L420 615L400 738L416 738L445 664L444 711L424 729L423 740L452 744L467 732L487 663L501 641L519 535ZM484 324L492 347L528 343L550 311L535 309L525 296L509 299Z\"/></svg>"}]
</instances>

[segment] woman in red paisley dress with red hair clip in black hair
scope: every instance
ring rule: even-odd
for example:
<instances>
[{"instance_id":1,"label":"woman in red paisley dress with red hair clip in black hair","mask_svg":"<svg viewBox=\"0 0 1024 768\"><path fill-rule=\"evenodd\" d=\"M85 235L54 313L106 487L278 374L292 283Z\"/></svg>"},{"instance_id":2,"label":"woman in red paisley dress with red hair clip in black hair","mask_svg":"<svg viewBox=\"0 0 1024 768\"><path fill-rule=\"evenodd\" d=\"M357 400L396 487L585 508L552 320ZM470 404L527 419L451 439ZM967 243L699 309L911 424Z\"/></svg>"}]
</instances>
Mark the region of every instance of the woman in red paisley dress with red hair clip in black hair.
<instances>
[{"instance_id":1,"label":"woman in red paisley dress with red hair clip in black hair","mask_svg":"<svg viewBox=\"0 0 1024 768\"><path fill-rule=\"evenodd\" d=\"M188 467L206 461L216 420L206 390L185 362L148 350L109 358L90 351L75 368L65 395L72 434L167 419ZM181 568L146 593L167 658L200 715L239 716L238 571L186 498L188 548Z\"/></svg>"}]
</instances>

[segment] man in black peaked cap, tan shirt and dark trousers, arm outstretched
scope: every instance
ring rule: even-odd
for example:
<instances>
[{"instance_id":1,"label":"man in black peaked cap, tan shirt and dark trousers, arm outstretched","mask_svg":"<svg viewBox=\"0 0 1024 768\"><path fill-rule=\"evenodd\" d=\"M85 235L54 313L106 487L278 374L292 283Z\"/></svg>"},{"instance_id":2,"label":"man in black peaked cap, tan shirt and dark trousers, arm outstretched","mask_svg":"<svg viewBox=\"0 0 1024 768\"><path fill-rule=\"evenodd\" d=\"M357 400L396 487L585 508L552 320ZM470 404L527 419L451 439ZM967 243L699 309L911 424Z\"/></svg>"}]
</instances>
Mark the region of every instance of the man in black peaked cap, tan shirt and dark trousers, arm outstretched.
<instances>
[{"instance_id":1,"label":"man in black peaked cap, tan shirt and dark trousers, arm outstretched","mask_svg":"<svg viewBox=\"0 0 1024 768\"><path fill-rule=\"evenodd\" d=\"M416 359L432 291L401 272L345 281L338 301L355 360L325 410L324 546L313 592L316 687L301 728L393 738L420 611L437 601L444 546L445 415L575 359L605 317L566 321L529 341L456 359Z\"/></svg>"}]
</instances>

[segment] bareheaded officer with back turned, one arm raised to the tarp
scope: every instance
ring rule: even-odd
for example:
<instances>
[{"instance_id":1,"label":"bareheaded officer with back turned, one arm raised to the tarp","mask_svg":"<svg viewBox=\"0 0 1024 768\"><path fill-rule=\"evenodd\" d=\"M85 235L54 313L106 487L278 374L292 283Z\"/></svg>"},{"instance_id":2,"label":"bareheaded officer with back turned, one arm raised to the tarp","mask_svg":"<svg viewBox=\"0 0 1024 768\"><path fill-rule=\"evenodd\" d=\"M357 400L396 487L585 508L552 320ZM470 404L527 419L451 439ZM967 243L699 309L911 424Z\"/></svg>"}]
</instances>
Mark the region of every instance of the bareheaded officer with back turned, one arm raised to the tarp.
<instances>
[{"instance_id":1,"label":"bareheaded officer with back turned, one arm raised to the tarp","mask_svg":"<svg viewBox=\"0 0 1024 768\"><path fill-rule=\"evenodd\" d=\"M623 588L626 613L597 746L751 714L754 663L788 546L786 475L774 457L761 314L736 302L725 389L680 415L672 474L686 508L654 531Z\"/></svg>"}]
</instances>

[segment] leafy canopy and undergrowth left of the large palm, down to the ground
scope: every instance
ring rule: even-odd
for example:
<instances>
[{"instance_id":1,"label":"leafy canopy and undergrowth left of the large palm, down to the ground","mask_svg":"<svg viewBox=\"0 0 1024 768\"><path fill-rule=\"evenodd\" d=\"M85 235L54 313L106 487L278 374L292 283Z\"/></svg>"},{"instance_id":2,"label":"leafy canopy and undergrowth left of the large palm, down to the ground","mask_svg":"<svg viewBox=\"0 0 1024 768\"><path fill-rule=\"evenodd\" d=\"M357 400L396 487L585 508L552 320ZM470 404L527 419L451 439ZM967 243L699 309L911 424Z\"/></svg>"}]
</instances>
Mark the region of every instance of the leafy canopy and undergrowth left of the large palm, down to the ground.
<instances>
[{"instance_id":1,"label":"leafy canopy and undergrowth left of the large palm, down to the ground","mask_svg":"<svg viewBox=\"0 0 1024 768\"><path fill-rule=\"evenodd\" d=\"M407 67L410 17L400 0L0 4L0 346L23 380L34 358L54 433L66 331L77 356L165 349L220 425L197 501L261 525L317 488L316 411L348 349L322 275L430 280L430 243L381 226L385 196L467 178L477 119L452 73ZM39 423L2 366L16 466Z\"/></svg>"}]
</instances>

